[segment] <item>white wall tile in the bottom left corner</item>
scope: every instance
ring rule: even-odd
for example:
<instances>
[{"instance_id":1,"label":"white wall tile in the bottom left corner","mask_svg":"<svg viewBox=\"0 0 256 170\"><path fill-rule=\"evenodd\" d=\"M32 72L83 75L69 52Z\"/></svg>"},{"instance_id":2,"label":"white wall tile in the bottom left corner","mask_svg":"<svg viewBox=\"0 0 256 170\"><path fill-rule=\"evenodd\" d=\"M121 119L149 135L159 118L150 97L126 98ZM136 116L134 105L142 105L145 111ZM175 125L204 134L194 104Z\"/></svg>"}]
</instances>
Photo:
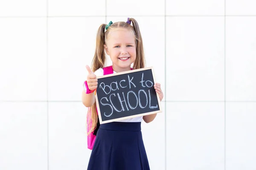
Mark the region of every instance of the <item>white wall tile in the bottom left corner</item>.
<instances>
[{"instance_id":1,"label":"white wall tile in the bottom left corner","mask_svg":"<svg viewBox=\"0 0 256 170\"><path fill-rule=\"evenodd\" d=\"M0 102L0 170L46 170L47 136L46 102Z\"/></svg>"}]
</instances>

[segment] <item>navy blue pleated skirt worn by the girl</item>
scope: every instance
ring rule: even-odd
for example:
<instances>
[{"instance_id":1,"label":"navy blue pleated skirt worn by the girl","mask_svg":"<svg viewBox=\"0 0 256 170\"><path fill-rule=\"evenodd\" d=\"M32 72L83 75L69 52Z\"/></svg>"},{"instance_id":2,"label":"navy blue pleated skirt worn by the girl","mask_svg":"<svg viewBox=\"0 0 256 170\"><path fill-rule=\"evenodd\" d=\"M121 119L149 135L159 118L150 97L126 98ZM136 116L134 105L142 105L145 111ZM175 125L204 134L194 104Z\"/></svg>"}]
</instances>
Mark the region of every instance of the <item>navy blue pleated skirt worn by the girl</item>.
<instances>
[{"instance_id":1,"label":"navy blue pleated skirt worn by the girl","mask_svg":"<svg viewBox=\"0 0 256 170\"><path fill-rule=\"evenodd\" d=\"M87 170L149 170L141 122L100 125Z\"/></svg>"}]
</instances>

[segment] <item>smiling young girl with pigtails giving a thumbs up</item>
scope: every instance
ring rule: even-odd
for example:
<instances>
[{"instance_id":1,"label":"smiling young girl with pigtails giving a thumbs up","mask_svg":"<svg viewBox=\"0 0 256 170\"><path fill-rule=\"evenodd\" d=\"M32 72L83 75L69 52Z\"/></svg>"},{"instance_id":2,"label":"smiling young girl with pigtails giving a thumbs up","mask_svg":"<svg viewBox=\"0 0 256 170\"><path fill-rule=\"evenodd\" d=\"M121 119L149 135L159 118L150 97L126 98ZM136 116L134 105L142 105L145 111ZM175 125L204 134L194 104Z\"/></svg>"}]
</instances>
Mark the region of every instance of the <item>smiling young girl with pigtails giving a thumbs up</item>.
<instances>
[{"instance_id":1,"label":"smiling young girl with pigtails giving a thumbs up","mask_svg":"<svg viewBox=\"0 0 256 170\"><path fill-rule=\"evenodd\" d=\"M87 170L149 170L141 121L151 122L157 113L99 125L93 92L98 85L96 76L102 76L106 70L105 51L113 62L107 67L111 73L131 70L132 63L133 69L144 68L143 41L137 21L128 18L127 22L110 22L99 27L92 70L86 66L89 74L82 92L82 102L91 111L88 133L96 131ZM155 83L154 88L162 101L160 84Z\"/></svg>"}]
</instances>

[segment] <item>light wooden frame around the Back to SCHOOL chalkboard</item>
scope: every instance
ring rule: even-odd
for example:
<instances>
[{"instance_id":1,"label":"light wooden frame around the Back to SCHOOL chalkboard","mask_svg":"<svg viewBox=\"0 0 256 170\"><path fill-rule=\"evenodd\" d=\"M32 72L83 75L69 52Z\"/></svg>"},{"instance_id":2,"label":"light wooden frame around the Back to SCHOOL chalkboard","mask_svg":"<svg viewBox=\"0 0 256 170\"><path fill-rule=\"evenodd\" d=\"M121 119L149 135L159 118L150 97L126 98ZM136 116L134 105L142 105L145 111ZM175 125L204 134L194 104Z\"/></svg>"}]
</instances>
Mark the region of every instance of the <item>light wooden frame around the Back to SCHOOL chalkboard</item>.
<instances>
[{"instance_id":1,"label":"light wooden frame around the Back to SCHOOL chalkboard","mask_svg":"<svg viewBox=\"0 0 256 170\"><path fill-rule=\"evenodd\" d=\"M135 70L131 70L131 71L122 71L122 72L119 72L119 73L107 74L107 75L104 75L104 76L97 76L97 79L101 79L101 78L105 78L105 77L117 76L117 75L121 75L121 74L134 73L134 72L144 71L144 70L151 70L152 71L153 80L154 80L154 83L156 83L153 67L140 68L140 69L135 69ZM97 106L97 111L98 111L98 115L99 115L99 122L100 122L100 124L109 123L109 122L115 122L115 121L120 121L120 120L124 120L124 119L130 119L130 118L134 118L134 117L145 116L145 115L150 115L150 114L154 114L154 113L161 113L161 112L163 112L162 111L160 97L157 94L157 101L158 101L158 105L159 105L159 110L158 111L152 111L152 112L141 113L141 114L132 115L132 116L125 116L125 117L122 117L122 118L102 121L102 117L101 117L101 113L100 113L100 108L99 108L99 100L98 100L98 96L97 96L97 91L96 91L96 94L95 94L95 100L96 100L96 106Z\"/></svg>"}]
</instances>

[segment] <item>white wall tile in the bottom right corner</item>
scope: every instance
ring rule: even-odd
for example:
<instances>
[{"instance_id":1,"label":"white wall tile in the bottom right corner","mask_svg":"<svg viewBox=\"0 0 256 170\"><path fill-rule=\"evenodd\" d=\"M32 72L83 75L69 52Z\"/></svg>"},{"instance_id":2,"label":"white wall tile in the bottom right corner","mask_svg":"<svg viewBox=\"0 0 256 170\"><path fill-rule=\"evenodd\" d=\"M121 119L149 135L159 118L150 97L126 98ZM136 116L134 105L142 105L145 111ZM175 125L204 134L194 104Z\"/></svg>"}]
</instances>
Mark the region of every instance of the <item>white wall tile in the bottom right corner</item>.
<instances>
[{"instance_id":1,"label":"white wall tile in the bottom right corner","mask_svg":"<svg viewBox=\"0 0 256 170\"><path fill-rule=\"evenodd\" d=\"M226 170L256 169L255 113L255 102L227 103Z\"/></svg>"}]
</instances>

